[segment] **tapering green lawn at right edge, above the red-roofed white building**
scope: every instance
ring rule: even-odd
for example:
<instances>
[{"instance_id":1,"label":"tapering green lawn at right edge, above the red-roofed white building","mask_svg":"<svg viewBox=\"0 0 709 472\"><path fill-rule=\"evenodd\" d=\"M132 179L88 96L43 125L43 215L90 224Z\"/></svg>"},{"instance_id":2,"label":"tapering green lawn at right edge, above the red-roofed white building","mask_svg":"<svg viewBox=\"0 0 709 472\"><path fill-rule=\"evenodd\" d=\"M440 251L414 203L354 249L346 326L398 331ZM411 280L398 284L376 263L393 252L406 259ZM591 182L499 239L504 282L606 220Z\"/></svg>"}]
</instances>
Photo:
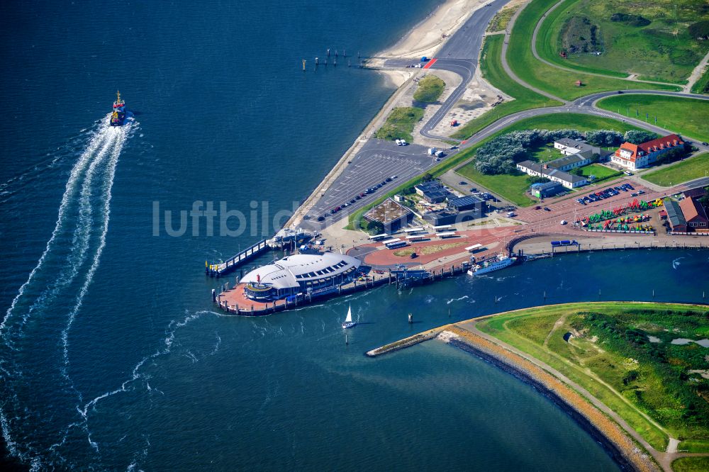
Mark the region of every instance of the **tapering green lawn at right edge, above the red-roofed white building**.
<instances>
[{"instance_id":1,"label":"tapering green lawn at right edge, above the red-roofed white building","mask_svg":"<svg viewBox=\"0 0 709 472\"><path fill-rule=\"evenodd\" d=\"M598 108L644 120L684 137L709 141L709 100L661 95L616 95L596 103Z\"/></svg>"}]
</instances>

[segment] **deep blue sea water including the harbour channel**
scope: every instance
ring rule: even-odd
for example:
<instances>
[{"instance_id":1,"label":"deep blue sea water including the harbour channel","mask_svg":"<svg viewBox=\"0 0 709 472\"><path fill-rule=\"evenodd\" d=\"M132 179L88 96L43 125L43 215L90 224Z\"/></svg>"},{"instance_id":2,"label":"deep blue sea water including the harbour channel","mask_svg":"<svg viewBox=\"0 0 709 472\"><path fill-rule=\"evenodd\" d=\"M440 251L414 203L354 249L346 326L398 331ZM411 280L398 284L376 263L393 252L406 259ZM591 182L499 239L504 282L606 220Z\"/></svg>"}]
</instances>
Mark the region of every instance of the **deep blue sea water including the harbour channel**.
<instances>
[{"instance_id":1,"label":"deep blue sea water including the harbour channel","mask_svg":"<svg viewBox=\"0 0 709 472\"><path fill-rule=\"evenodd\" d=\"M204 260L270 234L264 202L273 215L305 198L393 91L343 60L316 72L313 57L372 55L435 5L0 6L0 422L13 458L37 469L616 468L564 412L473 356L438 342L362 353L543 303L544 290L552 302L652 288L701 301L706 252L559 257L268 318L213 311ZM125 128L106 126L116 89L133 111ZM255 225L154 235L156 203L177 215L195 201L246 214L255 201ZM633 277L648 283L631 288ZM346 345L350 303L366 323Z\"/></svg>"}]
</instances>

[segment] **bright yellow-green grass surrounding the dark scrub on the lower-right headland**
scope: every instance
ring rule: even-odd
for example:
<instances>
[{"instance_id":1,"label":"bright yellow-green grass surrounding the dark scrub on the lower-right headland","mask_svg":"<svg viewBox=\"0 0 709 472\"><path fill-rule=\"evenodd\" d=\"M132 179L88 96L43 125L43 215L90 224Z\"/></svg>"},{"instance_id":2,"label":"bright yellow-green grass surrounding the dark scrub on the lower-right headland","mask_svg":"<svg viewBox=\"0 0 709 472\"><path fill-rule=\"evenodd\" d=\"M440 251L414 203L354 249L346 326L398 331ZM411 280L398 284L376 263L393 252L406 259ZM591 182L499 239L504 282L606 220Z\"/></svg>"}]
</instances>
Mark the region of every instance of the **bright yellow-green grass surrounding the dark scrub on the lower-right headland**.
<instances>
[{"instance_id":1,"label":"bright yellow-green grass surrounding the dark scrub on the lower-right headland","mask_svg":"<svg viewBox=\"0 0 709 472\"><path fill-rule=\"evenodd\" d=\"M658 313L652 313L650 310L657 310ZM709 312L709 308L703 305L630 304L618 302L575 303L503 313L481 320L477 326L480 330L518 347L518 349L537 357L537 359L545 361L554 369L561 371L564 375L579 383L579 385L584 386L599 400L603 401L605 405L618 412L656 449L664 450L666 435L655 427L652 422L640 415L638 410L644 410L648 415L660 415L660 417L664 418L664 420L657 420L657 422L664 424L673 437L691 438L684 441L680 449L705 451L709 446L708 442L705 439L694 439L706 437L705 427L696 424L686 424L687 422L671 414L673 408L675 410L683 408L679 405L683 400L680 400L680 397L675 398L675 393L669 393L668 395L664 390L663 386L667 381L661 375L662 372L666 373L666 370L662 371L659 367L666 364L649 362L641 355L640 359L644 359L641 364L636 364L637 367L633 367L630 364L630 367L626 366L626 369L623 370L622 367L619 368L618 366L622 366L628 359L615 351L618 348L615 347L613 342L617 341L613 341L612 337L598 340L597 345L596 342L591 342L588 337L574 337L570 342L566 342L562 337L566 330L571 329L570 325L581 320L574 313L585 311L610 315L613 317L610 318L611 320L619 320L619 322L624 323L623 326L642 329L644 332L652 332L654 335L663 338L662 342L666 343L664 346L668 353L666 355L669 362L671 365L675 365L681 362L681 359L691 359L686 356L698 355L695 352L698 348L669 345L669 340L674 339L679 334L670 332L667 328L676 328L681 330L682 333L691 331L693 332L693 335L690 335L691 337L695 335L701 336L704 332L704 327L701 323L705 323L705 320L698 320L696 317L686 318L684 313L687 310L705 314ZM545 349L542 345L543 339L546 339L546 335L549 332L551 320L553 318L558 319L564 314L566 314L564 326L559 328L549 338L548 349ZM625 336L628 335L626 334ZM632 337L632 335L630 336ZM630 345L630 341L623 342ZM647 344L642 349L647 349ZM583 365L579 365L581 360L584 361ZM629 398L636 408L627 405L613 389L603 386L588 376L585 371L588 368L606 383L616 386L616 391L623 390L624 396ZM624 383L625 378L623 376L632 371L632 369L640 371L640 380L637 380L640 383L639 386L635 386L634 381ZM618 389L618 385L620 385L620 389ZM640 388L640 390L633 390L633 388ZM635 395L633 395L635 391L642 392L642 397L636 400ZM679 390L676 394L679 395Z\"/></svg>"}]
</instances>

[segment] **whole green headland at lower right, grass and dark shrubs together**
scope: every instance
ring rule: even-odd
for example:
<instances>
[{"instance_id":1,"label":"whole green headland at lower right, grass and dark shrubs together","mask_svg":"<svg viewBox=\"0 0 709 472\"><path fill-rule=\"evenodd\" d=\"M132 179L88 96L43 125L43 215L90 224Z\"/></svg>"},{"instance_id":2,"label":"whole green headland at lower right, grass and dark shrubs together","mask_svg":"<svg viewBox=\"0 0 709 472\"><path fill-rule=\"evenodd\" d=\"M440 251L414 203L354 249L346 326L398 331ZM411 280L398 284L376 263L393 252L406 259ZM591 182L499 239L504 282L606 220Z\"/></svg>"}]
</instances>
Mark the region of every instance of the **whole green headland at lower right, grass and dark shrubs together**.
<instances>
[{"instance_id":1,"label":"whole green headland at lower right, grass and dark shrubs together","mask_svg":"<svg viewBox=\"0 0 709 472\"><path fill-rule=\"evenodd\" d=\"M477 326L579 383L655 449L664 450L670 435L688 442L698 439L693 449L709 451L704 442L709 405L696 394L697 389L709 392L709 382L683 373L704 365L703 348L670 343L676 337L703 337L709 329L709 307L629 302L549 305L502 313ZM661 342L649 342L648 335Z\"/></svg>"}]
</instances>

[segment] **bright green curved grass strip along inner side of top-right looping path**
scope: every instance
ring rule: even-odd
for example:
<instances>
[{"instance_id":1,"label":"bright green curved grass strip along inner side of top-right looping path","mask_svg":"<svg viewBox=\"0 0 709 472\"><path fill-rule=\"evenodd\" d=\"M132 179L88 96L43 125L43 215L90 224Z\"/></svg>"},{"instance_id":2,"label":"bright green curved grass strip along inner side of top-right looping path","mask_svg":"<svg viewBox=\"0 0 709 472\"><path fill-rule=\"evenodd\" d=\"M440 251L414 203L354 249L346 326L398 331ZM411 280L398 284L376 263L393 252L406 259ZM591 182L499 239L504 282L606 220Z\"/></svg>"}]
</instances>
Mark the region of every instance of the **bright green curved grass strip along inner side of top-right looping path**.
<instances>
[{"instance_id":1,"label":"bright green curved grass strip along inner side of top-right looping path","mask_svg":"<svg viewBox=\"0 0 709 472\"><path fill-rule=\"evenodd\" d=\"M562 6L557 7L557 9L547 15L544 23L542 23L542 26L539 28L539 33L537 33L537 54L539 54L542 59L552 62L552 64L557 64L561 67L576 69L581 72L604 74L610 77L627 77L628 74L625 72L603 69L601 67L584 66L571 60L564 59L561 55L559 55L559 52L561 51L561 45L559 45L560 31L566 22L566 18L569 17L569 10L574 9L578 1L579 0L566 0Z\"/></svg>"}]
</instances>

